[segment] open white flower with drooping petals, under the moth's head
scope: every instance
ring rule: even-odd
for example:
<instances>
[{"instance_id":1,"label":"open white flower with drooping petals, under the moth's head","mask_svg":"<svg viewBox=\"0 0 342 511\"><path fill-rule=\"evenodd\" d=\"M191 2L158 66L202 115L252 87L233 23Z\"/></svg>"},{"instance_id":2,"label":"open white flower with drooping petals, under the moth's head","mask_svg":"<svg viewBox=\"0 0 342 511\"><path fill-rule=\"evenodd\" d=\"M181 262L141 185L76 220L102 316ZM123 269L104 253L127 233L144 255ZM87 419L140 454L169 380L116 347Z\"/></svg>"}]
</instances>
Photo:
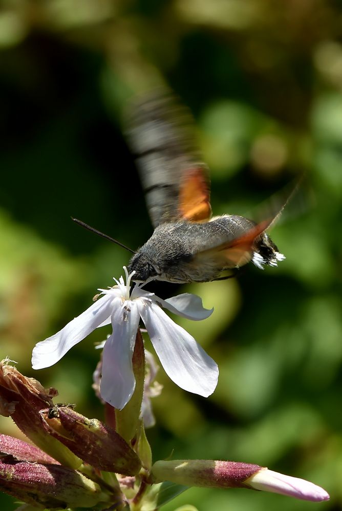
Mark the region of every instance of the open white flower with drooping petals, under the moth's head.
<instances>
[{"instance_id":1,"label":"open white flower with drooping petals, under the moth's head","mask_svg":"<svg viewBox=\"0 0 342 511\"><path fill-rule=\"evenodd\" d=\"M183 328L170 319L160 306L180 316L199 320L212 313L204 309L199 296L188 293L162 300L136 285L130 294L131 275L115 282L116 286L99 289L101 296L82 314L70 321L57 334L38 342L32 352L33 369L50 367L75 344L97 327L112 323L113 332L103 348L101 396L115 408L122 409L131 399L135 378L132 356L135 338L142 318L165 373L179 387L189 392L210 396L215 390L219 369Z\"/></svg>"}]
</instances>

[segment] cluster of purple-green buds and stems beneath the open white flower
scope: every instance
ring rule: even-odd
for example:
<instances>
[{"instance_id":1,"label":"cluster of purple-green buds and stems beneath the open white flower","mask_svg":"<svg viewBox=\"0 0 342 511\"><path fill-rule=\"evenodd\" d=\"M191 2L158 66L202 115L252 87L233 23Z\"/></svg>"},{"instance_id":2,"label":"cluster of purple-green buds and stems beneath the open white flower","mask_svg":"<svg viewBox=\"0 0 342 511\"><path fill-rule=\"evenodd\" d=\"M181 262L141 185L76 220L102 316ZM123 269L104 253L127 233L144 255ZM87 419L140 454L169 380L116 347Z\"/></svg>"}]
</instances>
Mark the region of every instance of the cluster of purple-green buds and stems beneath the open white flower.
<instances>
[{"instance_id":1,"label":"cluster of purple-green buds and stems beneath the open white flower","mask_svg":"<svg viewBox=\"0 0 342 511\"><path fill-rule=\"evenodd\" d=\"M0 434L0 488L24 509L158 508L189 486L242 487L304 500L329 498L319 486L251 463L215 460L151 462L143 427L130 440L115 428L55 405L44 389L0 363L0 414L11 416L37 447ZM136 430L136 431L137 431ZM170 486L171 483L171 486ZM165 491L167 489L167 491ZM157 504L158 503L158 504ZM140 506L141 504L141 506Z\"/></svg>"}]
</instances>

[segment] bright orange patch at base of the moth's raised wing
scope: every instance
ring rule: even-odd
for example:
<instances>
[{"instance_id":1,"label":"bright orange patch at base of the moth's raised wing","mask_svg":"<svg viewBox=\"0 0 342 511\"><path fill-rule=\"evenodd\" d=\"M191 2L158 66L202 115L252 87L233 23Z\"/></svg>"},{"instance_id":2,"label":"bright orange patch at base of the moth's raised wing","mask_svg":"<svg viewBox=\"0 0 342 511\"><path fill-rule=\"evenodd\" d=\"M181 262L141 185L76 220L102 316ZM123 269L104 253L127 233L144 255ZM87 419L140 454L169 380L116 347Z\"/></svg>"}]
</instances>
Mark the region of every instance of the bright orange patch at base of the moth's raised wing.
<instances>
[{"instance_id":1,"label":"bright orange patch at base of the moth's raised wing","mask_svg":"<svg viewBox=\"0 0 342 511\"><path fill-rule=\"evenodd\" d=\"M190 222L203 222L211 216L210 190L204 169L184 173L179 192L179 211Z\"/></svg>"}]
</instances>

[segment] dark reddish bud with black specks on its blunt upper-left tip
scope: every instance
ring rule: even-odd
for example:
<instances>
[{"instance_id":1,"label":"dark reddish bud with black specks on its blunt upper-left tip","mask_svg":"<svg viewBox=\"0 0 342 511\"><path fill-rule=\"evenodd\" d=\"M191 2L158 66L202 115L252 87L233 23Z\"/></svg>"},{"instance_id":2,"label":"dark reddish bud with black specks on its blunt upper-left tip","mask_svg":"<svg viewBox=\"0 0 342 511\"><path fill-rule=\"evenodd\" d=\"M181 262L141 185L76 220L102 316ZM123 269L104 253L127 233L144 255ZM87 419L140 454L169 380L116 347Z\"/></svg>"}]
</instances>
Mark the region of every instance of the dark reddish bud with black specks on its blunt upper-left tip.
<instances>
[{"instance_id":1,"label":"dark reddish bud with black specks on its blunt upper-left tip","mask_svg":"<svg viewBox=\"0 0 342 511\"><path fill-rule=\"evenodd\" d=\"M50 435L92 467L124 475L139 472L137 454L110 426L87 419L68 406L42 410L40 416Z\"/></svg>"}]
</instances>

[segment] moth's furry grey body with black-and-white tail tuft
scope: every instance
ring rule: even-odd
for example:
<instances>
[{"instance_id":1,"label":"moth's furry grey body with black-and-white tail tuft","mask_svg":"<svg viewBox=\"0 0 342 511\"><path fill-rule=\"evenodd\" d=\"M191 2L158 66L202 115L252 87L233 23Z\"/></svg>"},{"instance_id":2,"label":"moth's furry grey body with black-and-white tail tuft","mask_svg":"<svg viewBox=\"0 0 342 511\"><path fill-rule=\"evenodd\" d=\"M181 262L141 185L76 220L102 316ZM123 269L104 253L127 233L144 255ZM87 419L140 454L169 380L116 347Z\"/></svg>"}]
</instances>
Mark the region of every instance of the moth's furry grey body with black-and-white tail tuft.
<instances>
[{"instance_id":1,"label":"moth's furry grey body with black-and-white tail tuft","mask_svg":"<svg viewBox=\"0 0 342 511\"><path fill-rule=\"evenodd\" d=\"M266 233L255 238L252 247L234 251L234 242L256 225L237 215L223 215L204 223L162 223L133 256L129 271L136 272L135 281L187 283L216 280L224 270L238 268L250 260L258 267L276 265L281 254Z\"/></svg>"}]
</instances>

